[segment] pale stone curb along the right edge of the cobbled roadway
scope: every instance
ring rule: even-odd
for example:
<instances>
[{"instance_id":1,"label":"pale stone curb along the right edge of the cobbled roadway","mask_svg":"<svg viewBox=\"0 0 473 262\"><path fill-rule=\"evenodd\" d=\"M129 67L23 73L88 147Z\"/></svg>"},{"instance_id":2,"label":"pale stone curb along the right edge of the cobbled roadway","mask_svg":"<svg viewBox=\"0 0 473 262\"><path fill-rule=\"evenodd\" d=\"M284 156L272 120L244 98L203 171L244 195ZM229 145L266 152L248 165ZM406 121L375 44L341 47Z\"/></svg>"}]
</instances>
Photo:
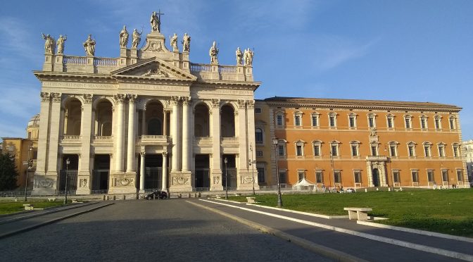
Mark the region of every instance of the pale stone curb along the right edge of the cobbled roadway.
<instances>
[{"instance_id":1,"label":"pale stone curb along the right edge of the cobbled roadway","mask_svg":"<svg viewBox=\"0 0 473 262\"><path fill-rule=\"evenodd\" d=\"M195 206L207 209L208 211L212 211L214 213L220 214L221 216L225 216L227 218L231 218L233 220L236 220L239 223L242 223L244 225L248 225L249 227L253 227L256 230L260 230L261 232L268 233L271 235L274 235L275 237L279 237L280 239L284 239L288 242L292 242L300 247L303 247L304 249L308 249L310 251L313 251L316 254L320 254L322 256L326 256L328 258L333 258L336 261L345 261L345 262L351 262L351 261L365 261L361 258L357 258L355 256L351 256L349 254L343 253L342 251L338 251L336 249L331 249L329 247L324 247L320 244L315 244L313 242L310 242L308 240L305 240L301 237L296 237L294 235L287 234L285 232L282 232L280 230L274 229L272 227L266 227L265 225L261 225L259 223L254 223L250 220L246 220L244 218L239 218L237 216L230 215L228 213L219 211L215 208L210 208L208 206L203 206L201 204L197 204L191 201L186 201L189 204L193 204ZM241 203L241 202L239 202Z\"/></svg>"}]
</instances>

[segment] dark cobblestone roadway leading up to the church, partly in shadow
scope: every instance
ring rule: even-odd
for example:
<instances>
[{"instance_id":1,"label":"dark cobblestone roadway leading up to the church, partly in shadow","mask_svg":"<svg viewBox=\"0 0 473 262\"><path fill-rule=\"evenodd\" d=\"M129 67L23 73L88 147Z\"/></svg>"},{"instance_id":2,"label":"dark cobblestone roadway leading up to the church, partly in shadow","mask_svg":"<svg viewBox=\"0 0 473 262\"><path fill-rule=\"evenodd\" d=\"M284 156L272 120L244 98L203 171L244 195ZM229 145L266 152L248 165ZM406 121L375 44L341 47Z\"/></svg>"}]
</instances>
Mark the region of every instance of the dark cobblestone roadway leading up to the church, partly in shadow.
<instances>
[{"instance_id":1,"label":"dark cobblestone roadway leading up to the church, partly in shadow","mask_svg":"<svg viewBox=\"0 0 473 262\"><path fill-rule=\"evenodd\" d=\"M0 240L1 261L329 261L184 199L114 205Z\"/></svg>"}]
</instances>

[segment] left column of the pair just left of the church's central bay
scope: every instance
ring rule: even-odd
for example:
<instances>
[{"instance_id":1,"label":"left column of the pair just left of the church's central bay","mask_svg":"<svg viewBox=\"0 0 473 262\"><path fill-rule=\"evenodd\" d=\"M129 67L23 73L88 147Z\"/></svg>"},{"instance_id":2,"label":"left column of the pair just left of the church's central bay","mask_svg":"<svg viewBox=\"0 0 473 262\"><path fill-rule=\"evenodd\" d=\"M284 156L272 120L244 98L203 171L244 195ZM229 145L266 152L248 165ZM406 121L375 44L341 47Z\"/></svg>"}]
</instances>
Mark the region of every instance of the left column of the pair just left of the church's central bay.
<instances>
[{"instance_id":1,"label":"left column of the pair just left of the church's central bay","mask_svg":"<svg viewBox=\"0 0 473 262\"><path fill-rule=\"evenodd\" d=\"M117 136L115 137L115 154L113 154L113 158L115 161L115 173L122 173L123 172L123 147L125 144L125 129L123 125L125 123L125 116L124 116L124 103L125 103L125 94L116 94L115 100L118 103L117 106L117 123L116 123L116 130Z\"/></svg>"}]
</instances>

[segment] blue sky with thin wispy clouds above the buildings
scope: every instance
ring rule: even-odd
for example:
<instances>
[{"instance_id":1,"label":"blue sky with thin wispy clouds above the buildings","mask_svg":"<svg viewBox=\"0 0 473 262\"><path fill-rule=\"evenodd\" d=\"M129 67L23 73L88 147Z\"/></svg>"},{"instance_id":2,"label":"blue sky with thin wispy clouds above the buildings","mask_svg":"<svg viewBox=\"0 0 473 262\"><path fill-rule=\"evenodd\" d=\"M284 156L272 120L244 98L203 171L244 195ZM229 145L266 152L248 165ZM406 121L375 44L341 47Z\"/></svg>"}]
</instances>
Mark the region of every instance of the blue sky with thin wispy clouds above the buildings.
<instances>
[{"instance_id":1,"label":"blue sky with thin wispy clouds above the buildings","mask_svg":"<svg viewBox=\"0 0 473 262\"><path fill-rule=\"evenodd\" d=\"M67 35L65 55L118 57L123 25L150 29L160 9L161 32L191 38L190 59L220 64L255 49L256 98L303 96L431 101L463 108L463 139L473 139L473 1L5 1L0 10L0 137L24 137L39 113L41 33ZM143 37L144 38L144 37ZM131 41L130 41L131 42ZM142 41L143 42L143 41ZM169 42L167 42L169 43ZM179 44L179 49L182 47Z\"/></svg>"}]
</instances>

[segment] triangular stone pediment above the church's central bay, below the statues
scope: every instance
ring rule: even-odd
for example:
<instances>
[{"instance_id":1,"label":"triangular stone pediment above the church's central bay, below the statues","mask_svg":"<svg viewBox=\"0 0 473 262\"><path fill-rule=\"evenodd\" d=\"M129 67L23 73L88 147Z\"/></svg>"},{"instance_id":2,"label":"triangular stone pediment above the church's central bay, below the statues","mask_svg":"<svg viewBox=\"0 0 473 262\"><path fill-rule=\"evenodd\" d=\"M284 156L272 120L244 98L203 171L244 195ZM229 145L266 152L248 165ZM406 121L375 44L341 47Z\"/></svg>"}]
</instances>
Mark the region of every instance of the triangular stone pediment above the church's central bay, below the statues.
<instances>
[{"instance_id":1,"label":"triangular stone pediment above the church's central bay, below the statues","mask_svg":"<svg viewBox=\"0 0 473 262\"><path fill-rule=\"evenodd\" d=\"M118 77L146 77L172 80L196 80L197 77L187 73L181 68L165 62L159 58L153 57L139 61L125 68L120 68L111 72Z\"/></svg>"}]
</instances>

